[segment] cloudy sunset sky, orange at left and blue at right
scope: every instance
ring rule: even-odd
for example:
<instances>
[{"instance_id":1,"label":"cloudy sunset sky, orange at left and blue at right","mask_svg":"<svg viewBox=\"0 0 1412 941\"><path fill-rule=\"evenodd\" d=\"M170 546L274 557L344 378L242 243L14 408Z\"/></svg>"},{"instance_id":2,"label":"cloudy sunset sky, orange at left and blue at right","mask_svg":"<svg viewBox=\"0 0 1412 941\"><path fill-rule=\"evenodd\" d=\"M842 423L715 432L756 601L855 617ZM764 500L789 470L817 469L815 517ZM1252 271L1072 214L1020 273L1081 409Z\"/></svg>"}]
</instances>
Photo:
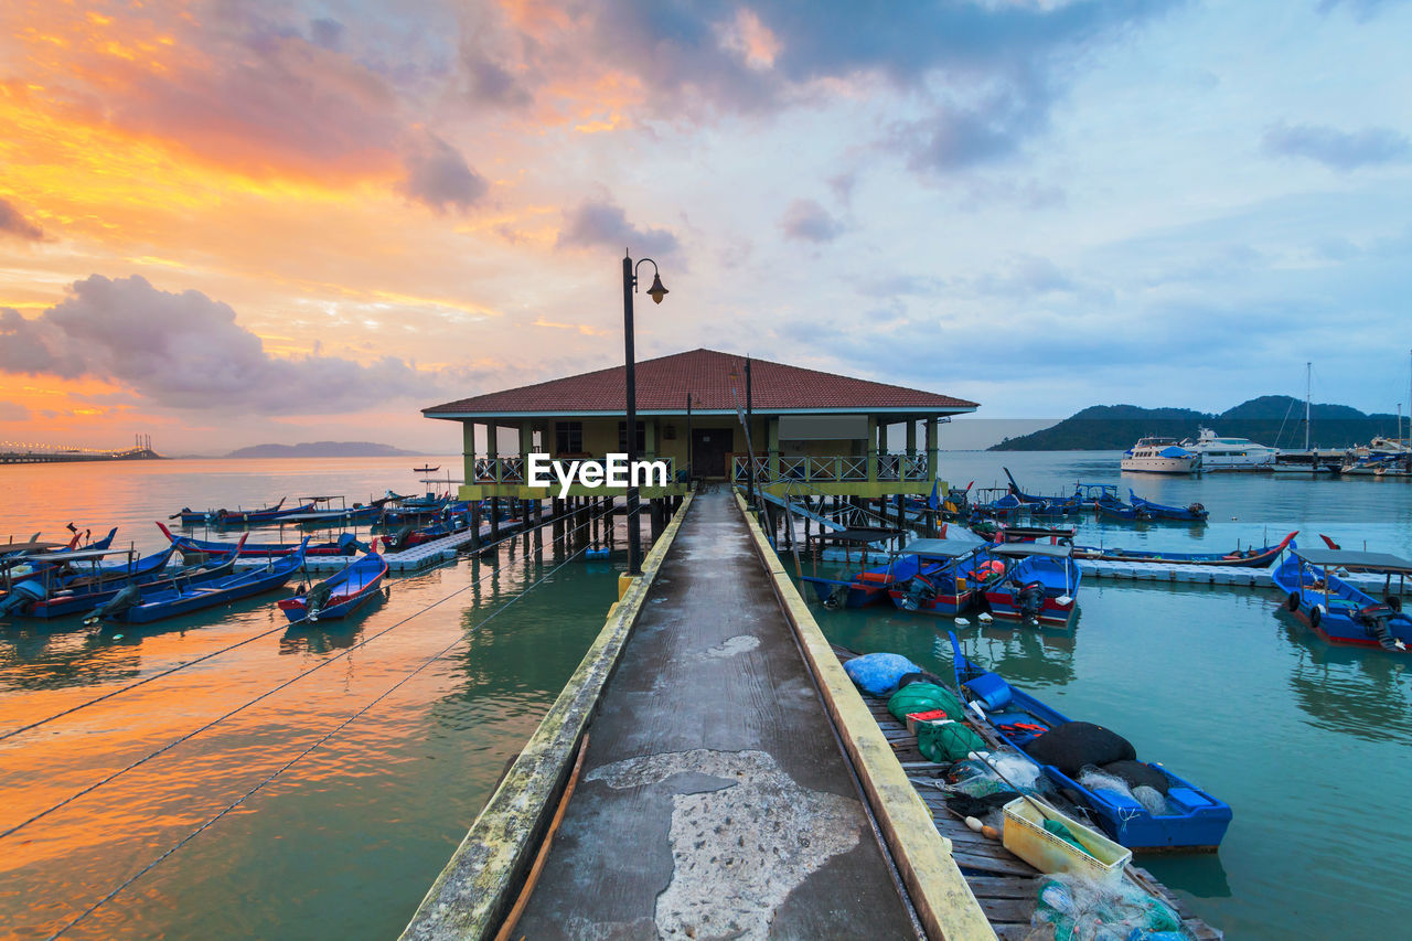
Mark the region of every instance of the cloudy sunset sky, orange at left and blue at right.
<instances>
[{"instance_id":1,"label":"cloudy sunset sky, orange at left and blue at right","mask_svg":"<svg viewBox=\"0 0 1412 941\"><path fill-rule=\"evenodd\" d=\"M395 10L395 11L394 11ZM1412 4L0 4L0 439L370 439L696 346L1408 401Z\"/></svg>"}]
</instances>

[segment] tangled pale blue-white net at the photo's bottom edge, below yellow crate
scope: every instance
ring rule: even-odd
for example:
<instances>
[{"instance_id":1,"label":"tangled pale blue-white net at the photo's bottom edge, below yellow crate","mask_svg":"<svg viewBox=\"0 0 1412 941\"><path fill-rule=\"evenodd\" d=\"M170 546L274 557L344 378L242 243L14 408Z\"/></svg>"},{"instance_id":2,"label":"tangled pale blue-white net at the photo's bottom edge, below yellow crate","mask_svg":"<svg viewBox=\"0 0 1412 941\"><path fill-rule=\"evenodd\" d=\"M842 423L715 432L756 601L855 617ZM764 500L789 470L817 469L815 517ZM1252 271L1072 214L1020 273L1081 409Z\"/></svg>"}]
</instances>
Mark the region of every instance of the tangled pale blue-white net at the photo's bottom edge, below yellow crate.
<instances>
[{"instance_id":1,"label":"tangled pale blue-white net at the photo's bottom edge, below yellow crate","mask_svg":"<svg viewBox=\"0 0 1412 941\"><path fill-rule=\"evenodd\" d=\"M1039 883L1032 924L1053 925L1055 941L1178 941L1192 935L1172 907L1130 882L1063 873Z\"/></svg>"}]
</instances>

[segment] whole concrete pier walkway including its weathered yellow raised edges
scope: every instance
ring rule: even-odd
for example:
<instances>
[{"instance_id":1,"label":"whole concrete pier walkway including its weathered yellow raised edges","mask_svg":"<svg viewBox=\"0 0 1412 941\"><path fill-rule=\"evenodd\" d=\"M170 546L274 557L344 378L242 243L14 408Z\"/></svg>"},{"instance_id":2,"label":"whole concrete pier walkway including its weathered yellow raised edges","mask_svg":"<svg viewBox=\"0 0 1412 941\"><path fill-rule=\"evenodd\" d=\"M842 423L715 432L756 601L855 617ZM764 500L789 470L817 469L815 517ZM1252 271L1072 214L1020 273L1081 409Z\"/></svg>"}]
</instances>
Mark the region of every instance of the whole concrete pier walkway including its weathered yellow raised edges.
<instances>
[{"instance_id":1,"label":"whole concrete pier walkway including its weathered yellow raised edges","mask_svg":"<svg viewBox=\"0 0 1412 941\"><path fill-rule=\"evenodd\" d=\"M705 493L402 938L994 938L949 852L764 534Z\"/></svg>"}]
</instances>

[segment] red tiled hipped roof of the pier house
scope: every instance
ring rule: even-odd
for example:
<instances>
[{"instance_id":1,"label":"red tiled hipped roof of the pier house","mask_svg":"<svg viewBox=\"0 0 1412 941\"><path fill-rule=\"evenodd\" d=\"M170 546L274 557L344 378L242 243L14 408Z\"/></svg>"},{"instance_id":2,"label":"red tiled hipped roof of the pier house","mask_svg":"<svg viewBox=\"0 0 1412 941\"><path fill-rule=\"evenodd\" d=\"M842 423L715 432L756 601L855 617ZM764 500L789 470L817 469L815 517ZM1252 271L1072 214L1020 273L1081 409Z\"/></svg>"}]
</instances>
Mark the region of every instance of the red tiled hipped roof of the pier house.
<instances>
[{"instance_id":1,"label":"red tiled hipped roof of the pier house","mask_svg":"<svg viewBox=\"0 0 1412 941\"><path fill-rule=\"evenodd\" d=\"M734 410L736 389L740 404L746 398L746 357L693 349L637 363L638 411L685 411L686 393L699 400L700 411ZM731 379L731 369L738 374ZM429 418L466 414L572 414L620 413L626 397L624 367L600 369L579 376L554 379L534 386L473 396L422 408ZM803 408L912 408L918 413L970 411L976 403L950 396L888 386L866 379L850 379L813 369L753 359L750 365L751 403L755 411Z\"/></svg>"}]
</instances>

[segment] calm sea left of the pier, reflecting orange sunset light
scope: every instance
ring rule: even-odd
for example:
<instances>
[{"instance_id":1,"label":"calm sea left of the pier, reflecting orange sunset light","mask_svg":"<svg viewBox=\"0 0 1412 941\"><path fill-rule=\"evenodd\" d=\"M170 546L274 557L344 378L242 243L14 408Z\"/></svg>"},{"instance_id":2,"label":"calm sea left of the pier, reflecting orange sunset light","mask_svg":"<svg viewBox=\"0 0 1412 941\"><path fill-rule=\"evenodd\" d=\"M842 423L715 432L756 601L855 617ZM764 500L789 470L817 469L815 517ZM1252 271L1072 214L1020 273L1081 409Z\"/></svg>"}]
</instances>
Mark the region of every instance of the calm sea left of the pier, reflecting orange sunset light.
<instances>
[{"instance_id":1,"label":"calm sea left of the pier, reflecting orange sunset light","mask_svg":"<svg viewBox=\"0 0 1412 941\"><path fill-rule=\"evenodd\" d=\"M453 470L459 458L443 458ZM284 495L418 492L417 459L169 461L0 468L0 538L68 521L152 520L182 506ZM438 463L432 459L431 463ZM456 475L459 476L459 475ZM274 530L254 530L273 534ZM621 545L621 543L618 543ZM395 937L573 673L616 599L613 562L582 557L504 608L556 561L460 561L391 579L346 625L285 632L264 596L90 636L0 620L0 735L175 664L230 653L0 740L0 831L321 663L321 668L0 839L0 937L48 937L393 684L397 688L90 918L72 938ZM446 600L443 600L446 599ZM435 602L442 602L429 608ZM504 613L497 613L497 612ZM415 617L411 617L417 615ZM411 617L411 620L405 620ZM493 617L493 620L491 620ZM404 622L400 626L400 622ZM360 640L394 627L359 650ZM449 647L449 650L448 650Z\"/></svg>"}]
</instances>

